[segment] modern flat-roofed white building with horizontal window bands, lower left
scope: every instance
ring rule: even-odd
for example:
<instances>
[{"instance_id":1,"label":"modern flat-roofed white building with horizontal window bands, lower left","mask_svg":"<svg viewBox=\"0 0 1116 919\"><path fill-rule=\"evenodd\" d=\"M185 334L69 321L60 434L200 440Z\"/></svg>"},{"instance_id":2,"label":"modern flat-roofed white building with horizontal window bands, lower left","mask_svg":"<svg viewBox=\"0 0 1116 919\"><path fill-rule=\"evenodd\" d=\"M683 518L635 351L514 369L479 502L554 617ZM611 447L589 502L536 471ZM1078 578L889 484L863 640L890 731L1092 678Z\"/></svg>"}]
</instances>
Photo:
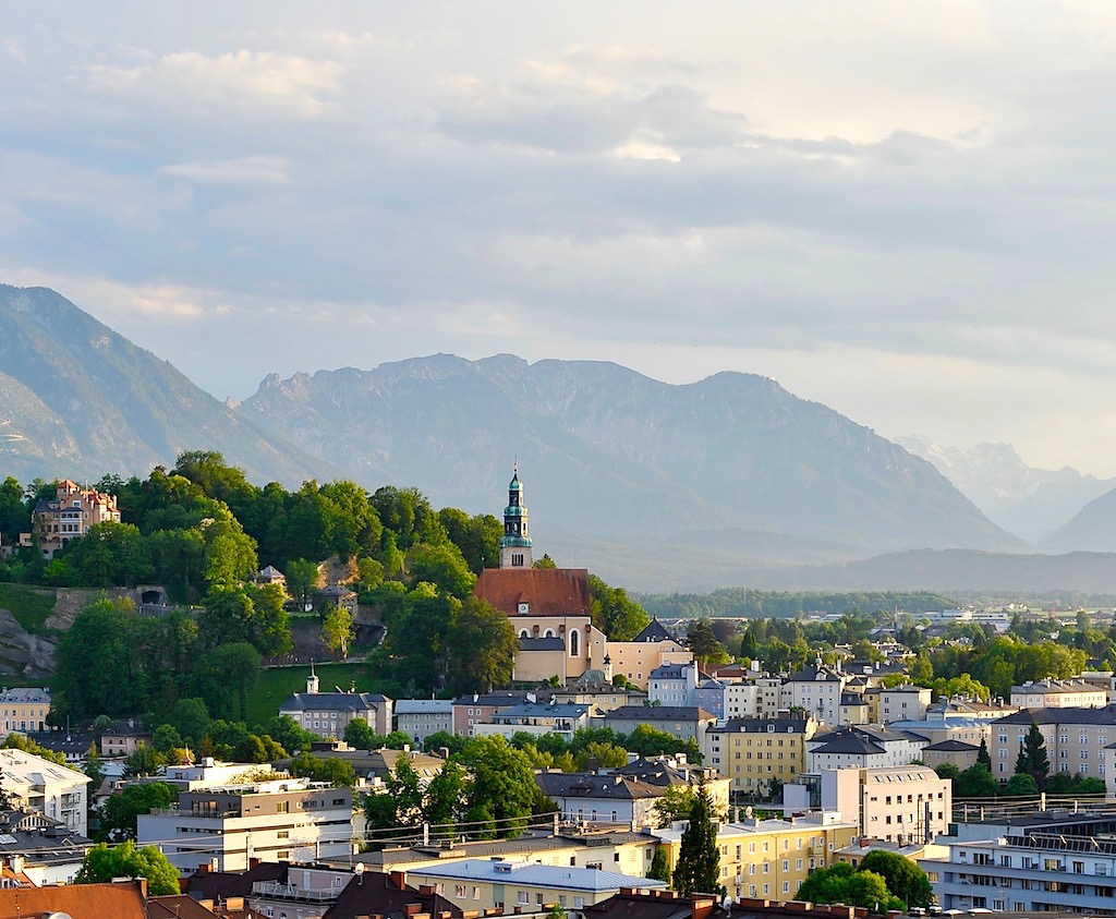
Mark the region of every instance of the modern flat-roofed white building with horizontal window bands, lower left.
<instances>
[{"instance_id":1,"label":"modern flat-roofed white building with horizontal window bands, lower left","mask_svg":"<svg viewBox=\"0 0 1116 919\"><path fill-rule=\"evenodd\" d=\"M304 778L181 792L176 807L141 814L137 845L158 843L182 874L243 871L250 859L316 861L353 853L353 791Z\"/></svg>"}]
</instances>

